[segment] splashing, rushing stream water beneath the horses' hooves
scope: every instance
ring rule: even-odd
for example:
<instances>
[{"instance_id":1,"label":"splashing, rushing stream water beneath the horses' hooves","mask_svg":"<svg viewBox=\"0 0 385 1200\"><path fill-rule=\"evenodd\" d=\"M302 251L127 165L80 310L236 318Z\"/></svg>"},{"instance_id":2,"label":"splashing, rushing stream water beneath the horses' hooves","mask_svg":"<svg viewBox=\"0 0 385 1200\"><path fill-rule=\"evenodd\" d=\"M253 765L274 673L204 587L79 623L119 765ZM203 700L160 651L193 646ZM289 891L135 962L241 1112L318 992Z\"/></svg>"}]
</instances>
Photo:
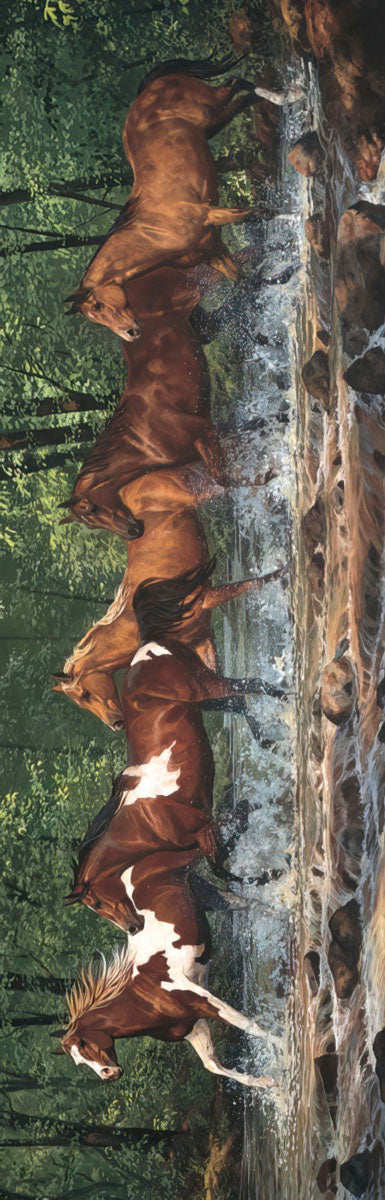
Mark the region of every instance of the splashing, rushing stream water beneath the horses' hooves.
<instances>
[{"instance_id":1,"label":"splashing, rushing stream water beneath the horses' hooves","mask_svg":"<svg viewBox=\"0 0 385 1200\"><path fill-rule=\"evenodd\" d=\"M227 719L234 805L240 799L248 804L247 833L231 868L241 875L269 866L285 871L257 890L245 886L243 893L255 902L247 918L234 916L245 1010L255 1012L282 1038L281 1051L269 1050L261 1040L249 1044L245 1057L248 1069L271 1070L277 1086L271 1093L245 1092L240 1196L315 1200L323 1193L348 1200L351 1192L343 1187L338 1168L366 1147L372 1165L365 1195L385 1194L384 1116L372 1050L384 1026L385 978L384 750L375 738L378 709L373 716L373 692L384 670L381 580L377 619L368 631L355 602L375 490L384 508L383 485L371 476L369 457L384 425L380 402L374 401L368 414L362 397L343 382L347 362L333 275L343 210L357 198L384 203L385 187L381 172L373 185L360 186L353 179L338 139L325 126L312 67L295 70L296 82L302 70L303 98L282 114L279 176L271 197L278 215L265 224L261 253L265 278L290 263L296 269L289 282L269 283L255 294L255 330L269 341L260 346L255 340L251 348L247 342L236 409L240 424L265 418L266 432L251 437L249 461L263 451L277 475L257 493L245 488L234 494L228 574L229 578L259 574L279 559L289 563L290 571L288 587L271 583L258 596L237 600L223 618L225 672L284 680L287 688L284 702L249 697L267 746L253 738L245 721ZM308 127L318 131L324 168L305 180L287 156L290 143ZM306 217L325 208L332 229L330 263L317 258L303 234ZM327 415L301 380L303 364L320 344L321 326L331 335L335 403ZM353 419L357 407L359 439ZM365 552L357 550L356 533L361 474L368 521L361 536ZM326 506L324 596L314 595L302 536L302 517L319 494ZM378 545L381 536L379 521L372 542ZM384 538L380 557L383 551ZM320 671L342 636L349 638L354 658L360 716L336 730L321 718L318 696ZM353 896L363 928L360 979L350 1000L337 1001L327 965L329 920ZM319 955L315 995L303 965L308 950ZM337 1062L337 1084L323 1082L315 1063L323 1056L326 1067ZM323 1168L327 1160L329 1172Z\"/></svg>"}]
</instances>

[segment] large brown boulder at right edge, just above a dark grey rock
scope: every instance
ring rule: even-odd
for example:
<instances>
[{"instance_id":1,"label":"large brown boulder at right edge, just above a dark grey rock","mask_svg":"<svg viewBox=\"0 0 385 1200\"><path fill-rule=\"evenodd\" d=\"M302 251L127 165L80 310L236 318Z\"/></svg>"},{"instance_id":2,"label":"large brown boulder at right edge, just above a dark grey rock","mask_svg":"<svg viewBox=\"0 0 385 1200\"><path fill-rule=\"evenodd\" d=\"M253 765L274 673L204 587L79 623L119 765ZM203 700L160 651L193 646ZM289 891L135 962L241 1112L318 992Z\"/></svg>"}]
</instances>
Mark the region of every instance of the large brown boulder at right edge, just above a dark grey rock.
<instances>
[{"instance_id":1,"label":"large brown boulder at right edge, just above a dark grey rock","mask_svg":"<svg viewBox=\"0 0 385 1200\"><path fill-rule=\"evenodd\" d=\"M385 268L380 260L385 206L361 200L339 221L335 295L347 353L365 348L363 331L384 323Z\"/></svg>"}]
</instances>

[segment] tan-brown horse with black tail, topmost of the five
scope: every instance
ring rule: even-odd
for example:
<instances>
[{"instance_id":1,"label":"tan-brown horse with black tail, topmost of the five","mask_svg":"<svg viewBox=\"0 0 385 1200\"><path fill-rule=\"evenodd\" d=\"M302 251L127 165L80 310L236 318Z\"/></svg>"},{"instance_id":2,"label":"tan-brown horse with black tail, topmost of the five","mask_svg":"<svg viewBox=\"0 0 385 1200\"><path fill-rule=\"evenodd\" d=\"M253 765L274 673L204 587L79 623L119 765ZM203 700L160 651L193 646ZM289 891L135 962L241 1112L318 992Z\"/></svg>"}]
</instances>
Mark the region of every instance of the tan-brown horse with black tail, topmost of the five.
<instances>
[{"instance_id":1,"label":"tan-brown horse with black tail, topmost of the five","mask_svg":"<svg viewBox=\"0 0 385 1200\"><path fill-rule=\"evenodd\" d=\"M68 296L76 310L127 341L140 332L130 294L136 276L164 264L207 262L236 277L218 227L243 221L248 210L217 206L206 139L253 103L255 89L234 77L216 88L203 82L230 65L164 62L143 80L130 109L124 149L134 185L79 289Z\"/></svg>"}]
</instances>

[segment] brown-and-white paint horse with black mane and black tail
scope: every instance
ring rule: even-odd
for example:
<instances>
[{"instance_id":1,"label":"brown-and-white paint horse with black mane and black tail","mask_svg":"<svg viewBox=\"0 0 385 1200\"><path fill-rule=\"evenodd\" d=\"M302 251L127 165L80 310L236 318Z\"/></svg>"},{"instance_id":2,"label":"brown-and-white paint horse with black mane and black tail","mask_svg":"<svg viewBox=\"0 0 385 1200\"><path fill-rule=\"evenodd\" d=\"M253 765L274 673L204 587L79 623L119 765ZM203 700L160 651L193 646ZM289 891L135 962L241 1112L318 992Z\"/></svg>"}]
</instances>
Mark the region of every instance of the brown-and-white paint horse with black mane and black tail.
<instances>
[{"instance_id":1,"label":"brown-and-white paint horse with black mane and black tail","mask_svg":"<svg viewBox=\"0 0 385 1200\"><path fill-rule=\"evenodd\" d=\"M227 679L169 637L182 625L206 575L207 568L166 582L145 581L134 594L140 647L121 701L130 766L82 842L66 898L67 904L96 908L126 931L142 907L148 864L161 871L173 864L176 870L201 854L216 863L213 756L200 706L249 692L284 695L260 679ZM222 877L229 876L222 871Z\"/></svg>"}]
</instances>

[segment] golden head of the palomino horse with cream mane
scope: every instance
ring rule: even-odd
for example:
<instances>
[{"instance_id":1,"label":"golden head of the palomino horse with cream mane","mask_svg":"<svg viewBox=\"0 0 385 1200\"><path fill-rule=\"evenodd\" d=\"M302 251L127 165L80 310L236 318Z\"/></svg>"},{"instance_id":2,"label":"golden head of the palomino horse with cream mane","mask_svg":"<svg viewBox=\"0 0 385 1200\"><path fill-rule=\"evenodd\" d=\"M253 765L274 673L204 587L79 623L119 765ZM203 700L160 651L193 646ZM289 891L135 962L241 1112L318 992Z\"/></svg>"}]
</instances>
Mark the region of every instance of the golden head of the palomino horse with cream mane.
<instances>
[{"instance_id":1,"label":"golden head of the palomino horse with cream mane","mask_svg":"<svg viewBox=\"0 0 385 1200\"><path fill-rule=\"evenodd\" d=\"M62 691L70 696L79 708L85 708L94 716L98 716L104 725L108 725L114 733L120 733L124 728L124 715L118 696L118 691L110 674L104 671L90 671L88 674L77 674L71 671L59 671L53 674L55 684L53 691Z\"/></svg>"}]
</instances>

